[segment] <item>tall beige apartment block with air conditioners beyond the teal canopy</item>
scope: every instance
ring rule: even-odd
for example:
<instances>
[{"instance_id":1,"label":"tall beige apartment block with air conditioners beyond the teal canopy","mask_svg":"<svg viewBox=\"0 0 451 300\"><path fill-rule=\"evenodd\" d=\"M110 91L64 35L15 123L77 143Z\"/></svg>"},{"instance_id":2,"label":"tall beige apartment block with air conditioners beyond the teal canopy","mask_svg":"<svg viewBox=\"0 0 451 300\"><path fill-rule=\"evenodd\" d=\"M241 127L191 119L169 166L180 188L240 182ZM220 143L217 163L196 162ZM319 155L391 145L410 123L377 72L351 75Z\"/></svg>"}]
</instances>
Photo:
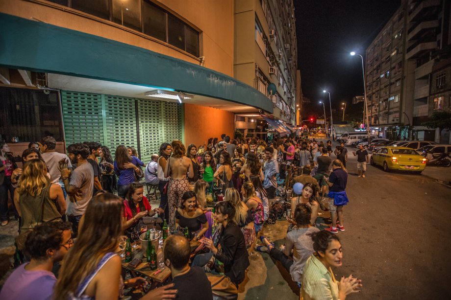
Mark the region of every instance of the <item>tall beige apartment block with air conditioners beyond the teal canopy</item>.
<instances>
[{"instance_id":1,"label":"tall beige apartment block with air conditioners beyond the teal canopy","mask_svg":"<svg viewBox=\"0 0 451 300\"><path fill-rule=\"evenodd\" d=\"M274 108L272 114L237 115L246 120L236 126L243 133L255 118L280 134L294 132L299 92L294 9L293 0L235 0L234 77L271 99Z\"/></svg>"}]
</instances>

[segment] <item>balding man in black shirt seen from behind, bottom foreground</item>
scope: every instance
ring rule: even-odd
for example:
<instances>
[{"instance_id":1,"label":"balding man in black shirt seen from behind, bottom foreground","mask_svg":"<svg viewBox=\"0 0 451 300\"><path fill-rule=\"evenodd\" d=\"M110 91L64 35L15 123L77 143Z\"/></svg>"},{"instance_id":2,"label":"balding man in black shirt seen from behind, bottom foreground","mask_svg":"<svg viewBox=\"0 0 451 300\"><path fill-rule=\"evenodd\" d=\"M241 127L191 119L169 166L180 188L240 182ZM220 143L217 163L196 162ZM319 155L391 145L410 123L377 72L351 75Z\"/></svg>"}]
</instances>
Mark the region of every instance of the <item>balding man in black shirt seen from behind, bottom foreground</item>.
<instances>
[{"instance_id":1,"label":"balding man in black shirt seen from behind, bottom foreground","mask_svg":"<svg viewBox=\"0 0 451 300\"><path fill-rule=\"evenodd\" d=\"M171 269L179 299L183 300L213 300L211 283L201 267L190 267L191 246L187 238L172 234L163 245L164 264Z\"/></svg>"}]
</instances>

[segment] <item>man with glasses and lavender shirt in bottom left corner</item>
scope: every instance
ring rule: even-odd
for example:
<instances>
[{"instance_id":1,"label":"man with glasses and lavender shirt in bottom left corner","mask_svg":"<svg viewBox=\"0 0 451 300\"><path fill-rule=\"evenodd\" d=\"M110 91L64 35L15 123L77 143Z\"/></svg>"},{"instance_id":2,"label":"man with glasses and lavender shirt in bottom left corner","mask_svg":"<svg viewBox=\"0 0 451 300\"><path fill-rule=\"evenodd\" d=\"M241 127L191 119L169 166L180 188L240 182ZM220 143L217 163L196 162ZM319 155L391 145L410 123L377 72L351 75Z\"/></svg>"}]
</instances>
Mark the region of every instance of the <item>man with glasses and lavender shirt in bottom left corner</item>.
<instances>
[{"instance_id":1,"label":"man with glasses and lavender shirt in bottom left corner","mask_svg":"<svg viewBox=\"0 0 451 300\"><path fill-rule=\"evenodd\" d=\"M56 277L51 272L74 245L71 223L47 222L36 226L28 235L25 251L31 257L8 277L0 292L0 299L52 299Z\"/></svg>"}]
</instances>

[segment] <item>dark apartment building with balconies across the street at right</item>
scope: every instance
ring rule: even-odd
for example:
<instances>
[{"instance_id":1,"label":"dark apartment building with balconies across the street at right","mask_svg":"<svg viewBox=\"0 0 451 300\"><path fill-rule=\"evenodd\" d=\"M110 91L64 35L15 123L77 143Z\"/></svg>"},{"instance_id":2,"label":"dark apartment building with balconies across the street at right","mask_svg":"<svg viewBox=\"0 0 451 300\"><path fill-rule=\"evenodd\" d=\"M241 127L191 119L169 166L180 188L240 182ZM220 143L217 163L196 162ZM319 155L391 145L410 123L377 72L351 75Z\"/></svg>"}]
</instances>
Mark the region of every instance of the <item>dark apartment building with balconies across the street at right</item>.
<instances>
[{"instance_id":1,"label":"dark apartment building with balconies across the street at right","mask_svg":"<svg viewBox=\"0 0 451 300\"><path fill-rule=\"evenodd\" d=\"M438 130L421 124L436 111L430 109L433 69L451 44L450 3L402 0L366 50L366 110L385 138L439 139Z\"/></svg>"}]
</instances>

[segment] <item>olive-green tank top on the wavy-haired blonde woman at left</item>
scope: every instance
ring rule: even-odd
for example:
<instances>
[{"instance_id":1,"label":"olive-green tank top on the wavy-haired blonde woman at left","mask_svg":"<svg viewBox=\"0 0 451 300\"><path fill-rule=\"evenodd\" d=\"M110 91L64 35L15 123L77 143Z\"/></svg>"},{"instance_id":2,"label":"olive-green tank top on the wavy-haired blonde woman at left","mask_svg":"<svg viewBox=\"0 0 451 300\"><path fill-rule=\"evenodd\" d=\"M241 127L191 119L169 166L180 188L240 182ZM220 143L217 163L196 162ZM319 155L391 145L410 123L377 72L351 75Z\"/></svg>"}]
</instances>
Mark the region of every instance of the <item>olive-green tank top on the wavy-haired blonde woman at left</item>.
<instances>
[{"instance_id":1,"label":"olive-green tank top on the wavy-haired blonde woman at left","mask_svg":"<svg viewBox=\"0 0 451 300\"><path fill-rule=\"evenodd\" d=\"M22 213L21 231L33 229L41 223L61 221L61 214L50 199L50 185L42 189L40 194L31 196L29 193L24 193L19 196Z\"/></svg>"}]
</instances>

